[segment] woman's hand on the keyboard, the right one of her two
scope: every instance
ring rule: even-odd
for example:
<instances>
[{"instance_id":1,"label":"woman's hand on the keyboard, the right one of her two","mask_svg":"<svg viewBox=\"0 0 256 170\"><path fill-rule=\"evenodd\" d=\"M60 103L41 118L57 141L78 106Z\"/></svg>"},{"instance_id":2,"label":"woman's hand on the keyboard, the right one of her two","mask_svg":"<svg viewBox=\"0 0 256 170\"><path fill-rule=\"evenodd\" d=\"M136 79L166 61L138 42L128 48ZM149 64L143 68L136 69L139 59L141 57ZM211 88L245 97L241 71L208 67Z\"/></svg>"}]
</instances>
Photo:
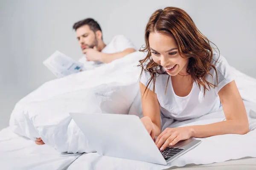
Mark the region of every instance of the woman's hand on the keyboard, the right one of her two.
<instances>
[{"instance_id":1,"label":"woman's hand on the keyboard, the right one of her two","mask_svg":"<svg viewBox=\"0 0 256 170\"><path fill-rule=\"evenodd\" d=\"M169 146L175 145L180 140L189 139L192 136L192 131L189 127L166 128L157 137L156 145L160 150L165 150Z\"/></svg>"}]
</instances>

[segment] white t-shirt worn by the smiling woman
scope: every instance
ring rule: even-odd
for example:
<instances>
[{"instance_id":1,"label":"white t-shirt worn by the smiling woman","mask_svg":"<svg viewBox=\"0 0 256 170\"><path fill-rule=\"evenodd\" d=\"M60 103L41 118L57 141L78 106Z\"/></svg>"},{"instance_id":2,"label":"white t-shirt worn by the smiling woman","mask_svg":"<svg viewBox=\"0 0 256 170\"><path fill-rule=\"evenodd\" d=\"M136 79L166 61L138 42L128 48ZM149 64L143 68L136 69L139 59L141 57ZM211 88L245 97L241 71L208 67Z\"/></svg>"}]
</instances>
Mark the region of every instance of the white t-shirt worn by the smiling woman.
<instances>
[{"instance_id":1,"label":"white t-shirt worn by the smiling woman","mask_svg":"<svg viewBox=\"0 0 256 170\"><path fill-rule=\"evenodd\" d=\"M217 53L213 53L213 59L215 61L218 59ZM230 66L223 56L220 56L217 62L212 60L212 63L215 64L218 73L218 87L210 88L209 91L206 91L205 96L203 87L201 86L201 89L199 89L196 82L193 83L192 90L189 95L184 97L177 96L174 93L171 78L169 78L166 89L166 83L169 75L157 75L155 82L155 93L157 94L157 99L160 103L162 121L164 118L171 118L178 121L194 119L207 113L217 111L220 108L221 102L218 92L229 82L233 81L235 79L235 75L230 70ZM215 70L212 68L210 73L214 79L212 79L212 77L208 74L206 77L207 81L217 85ZM147 71L143 71L140 82L147 85L149 78L150 74ZM153 91L153 81L151 81L148 87L151 89L151 91Z\"/></svg>"}]
</instances>

